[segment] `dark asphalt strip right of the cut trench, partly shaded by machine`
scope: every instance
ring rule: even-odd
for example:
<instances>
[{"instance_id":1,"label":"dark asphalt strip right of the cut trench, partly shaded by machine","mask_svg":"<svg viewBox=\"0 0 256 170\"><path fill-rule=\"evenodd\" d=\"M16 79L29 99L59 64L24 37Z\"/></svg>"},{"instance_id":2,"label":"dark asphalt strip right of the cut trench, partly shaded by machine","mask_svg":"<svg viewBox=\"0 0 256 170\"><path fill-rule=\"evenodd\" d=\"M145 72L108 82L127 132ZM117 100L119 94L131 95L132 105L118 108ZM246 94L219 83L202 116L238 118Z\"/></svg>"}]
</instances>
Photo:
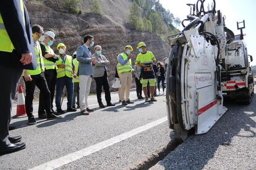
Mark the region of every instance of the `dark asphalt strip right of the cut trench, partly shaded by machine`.
<instances>
[{"instance_id":1,"label":"dark asphalt strip right of the cut trench, partly shaded by machine","mask_svg":"<svg viewBox=\"0 0 256 170\"><path fill-rule=\"evenodd\" d=\"M228 111L207 134L190 136L151 169L256 169L256 97L224 105Z\"/></svg>"}]
</instances>

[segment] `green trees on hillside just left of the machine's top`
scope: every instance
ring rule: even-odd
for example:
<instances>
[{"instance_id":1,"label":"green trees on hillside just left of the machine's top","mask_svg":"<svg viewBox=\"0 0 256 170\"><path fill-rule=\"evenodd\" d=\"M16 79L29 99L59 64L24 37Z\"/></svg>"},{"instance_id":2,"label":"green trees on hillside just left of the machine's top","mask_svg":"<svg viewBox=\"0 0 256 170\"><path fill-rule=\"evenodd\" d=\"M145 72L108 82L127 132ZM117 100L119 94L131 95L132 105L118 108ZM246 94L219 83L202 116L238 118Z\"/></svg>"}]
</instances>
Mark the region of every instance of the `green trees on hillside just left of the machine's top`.
<instances>
[{"instance_id":1,"label":"green trees on hillside just left of the machine's top","mask_svg":"<svg viewBox=\"0 0 256 170\"><path fill-rule=\"evenodd\" d=\"M132 30L155 33L161 37L179 32L176 27L181 24L181 20L164 9L159 0L133 0L129 10L129 26Z\"/></svg>"}]
</instances>

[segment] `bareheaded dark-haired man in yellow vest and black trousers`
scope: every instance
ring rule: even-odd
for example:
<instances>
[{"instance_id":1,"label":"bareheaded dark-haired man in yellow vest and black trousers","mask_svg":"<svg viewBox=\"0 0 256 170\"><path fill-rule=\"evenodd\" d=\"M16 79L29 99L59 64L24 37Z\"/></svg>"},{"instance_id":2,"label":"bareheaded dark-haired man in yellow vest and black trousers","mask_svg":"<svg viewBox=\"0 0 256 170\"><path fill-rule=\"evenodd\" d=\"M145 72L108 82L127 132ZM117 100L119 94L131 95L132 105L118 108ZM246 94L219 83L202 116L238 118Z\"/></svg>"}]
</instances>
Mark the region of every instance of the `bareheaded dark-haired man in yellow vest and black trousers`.
<instances>
[{"instance_id":1,"label":"bareheaded dark-haired man in yellow vest and black trousers","mask_svg":"<svg viewBox=\"0 0 256 170\"><path fill-rule=\"evenodd\" d=\"M26 97L25 97L25 106L26 106L26 113L28 116L28 124L36 124L36 120L33 116L33 98L34 98L34 91L35 86L40 89L40 92L43 93L44 97L44 103L46 104L45 115L38 115L39 118L43 119L58 119L59 117L54 115L54 113L51 112L51 94L49 92L44 71L45 66L43 63L43 56L41 52L41 47L38 42L38 39L43 39L43 27L40 25L34 25L32 27L32 33L33 33L33 40L34 40L34 47L35 47L35 53L36 53L36 59L37 59L37 68L36 70L24 70L23 78L25 80L25 86L26 86Z\"/></svg>"}]
</instances>

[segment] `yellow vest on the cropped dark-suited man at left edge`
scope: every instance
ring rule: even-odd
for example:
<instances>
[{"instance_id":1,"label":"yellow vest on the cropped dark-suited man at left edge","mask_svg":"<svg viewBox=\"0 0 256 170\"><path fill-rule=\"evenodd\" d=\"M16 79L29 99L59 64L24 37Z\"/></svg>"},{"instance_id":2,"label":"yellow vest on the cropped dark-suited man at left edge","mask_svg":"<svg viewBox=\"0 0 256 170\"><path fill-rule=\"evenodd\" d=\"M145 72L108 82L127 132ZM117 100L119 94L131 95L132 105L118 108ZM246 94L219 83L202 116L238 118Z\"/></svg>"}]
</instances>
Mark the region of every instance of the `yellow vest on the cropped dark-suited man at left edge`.
<instances>
[{"instance_id":1,"label":"yellow vest on the cropped dark-suited man at left edge","mask_svg":"<svg viewBox=\"0 0 256 170\"><path fill-rule=\"evenodd\" d=\"M22 0L20 0L20 10L22 11L23 23L25 25L25 15ZM12 44L12 41L6 31L4 21L2 20L2 15L0 14L0 51L12 52L14 49L14 45Z\"/></svg>"}]
</instances>

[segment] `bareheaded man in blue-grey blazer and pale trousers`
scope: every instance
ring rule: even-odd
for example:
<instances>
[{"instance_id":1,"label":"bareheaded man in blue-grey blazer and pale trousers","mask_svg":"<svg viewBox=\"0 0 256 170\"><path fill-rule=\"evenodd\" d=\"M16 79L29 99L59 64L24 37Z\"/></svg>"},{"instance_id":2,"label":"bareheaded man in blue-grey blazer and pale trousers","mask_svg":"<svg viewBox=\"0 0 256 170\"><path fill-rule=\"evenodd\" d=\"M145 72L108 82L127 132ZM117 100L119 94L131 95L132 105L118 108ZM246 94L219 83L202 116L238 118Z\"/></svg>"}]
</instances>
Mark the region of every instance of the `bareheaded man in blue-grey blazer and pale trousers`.
<instances>
[{"instance_id":1,"label":"bareheaded man in blue-grey blazer and pale trousers","mask_svg":"<svg viewBox=\"0 0 256 170\"><path fill-rule=\"evenodd\" d=\"M83 38L84 44L77 48L77 61L79 61L79 105L83 115L89 115L94 110L88 108L88 95L92 83L93 65L96 59L92 59L90 47L94 46L93 36L86 35Z\"/></svg>"}]
</instances>

